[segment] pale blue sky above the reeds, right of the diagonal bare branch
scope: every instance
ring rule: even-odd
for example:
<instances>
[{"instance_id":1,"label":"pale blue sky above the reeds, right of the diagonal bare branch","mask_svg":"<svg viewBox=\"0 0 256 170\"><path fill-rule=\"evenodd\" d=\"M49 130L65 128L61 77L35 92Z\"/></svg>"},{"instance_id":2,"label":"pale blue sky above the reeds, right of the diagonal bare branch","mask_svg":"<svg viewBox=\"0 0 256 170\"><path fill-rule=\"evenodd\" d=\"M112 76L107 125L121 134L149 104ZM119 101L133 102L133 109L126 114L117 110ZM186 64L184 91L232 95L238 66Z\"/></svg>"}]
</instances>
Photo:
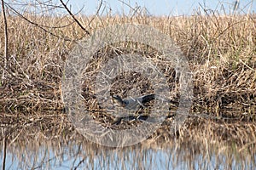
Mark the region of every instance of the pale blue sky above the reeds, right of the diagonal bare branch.
<instances>
[{"instance_id":1,"label":"pale blue sky above the reeds, right of the diagonal bare branch","mask_svg":"<svg viewBox=\"0 0 256 170\"><path fill-rule=\"evenodd\" d=\"M112 14L123 14L124 12L129 14L130 8L122 2L129 4L132 8L147 8L149 14L160 16L189 15L193 14L193 9L201 8L201 6L212 10L218 9L218 11L224 7L226 12L230 12L233 10L236 0L103 0L101 14L106 14L110 8ZM256 13L256 0L240 0L239 2L237 12ZM91 15L95 14L99 3L99 0L70 0L69 5L72 5L73 12L77 12L84 6L82 13Z\"/></svg>"}]
</instances>

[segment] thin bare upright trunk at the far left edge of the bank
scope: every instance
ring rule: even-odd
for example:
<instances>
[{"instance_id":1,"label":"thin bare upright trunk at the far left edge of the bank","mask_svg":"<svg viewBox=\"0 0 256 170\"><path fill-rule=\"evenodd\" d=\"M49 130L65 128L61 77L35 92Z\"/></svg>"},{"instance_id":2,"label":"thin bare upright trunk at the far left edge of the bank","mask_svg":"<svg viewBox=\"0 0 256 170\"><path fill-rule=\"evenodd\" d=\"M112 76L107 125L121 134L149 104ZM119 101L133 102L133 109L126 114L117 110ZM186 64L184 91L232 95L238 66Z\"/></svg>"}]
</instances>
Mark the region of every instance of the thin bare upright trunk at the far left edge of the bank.
<instances>
[{"instance_id":1,"label":"thin bare upright trunk at the far left edge of the bank","mask_svg":"<svg viewBox=\"0 0 256 170\"><path fill-rule=\"evenodd\" d=\"M3 82L4 72L6 70L7 61L8 61L8 31L7 31L7 20L6 20L3 0L2 0L2 12L3 12L3 22L4 22L4 55L5 55L4 66L3 66L3 75L2 75L2 82Z\"/></svg>"}]
</instances>

